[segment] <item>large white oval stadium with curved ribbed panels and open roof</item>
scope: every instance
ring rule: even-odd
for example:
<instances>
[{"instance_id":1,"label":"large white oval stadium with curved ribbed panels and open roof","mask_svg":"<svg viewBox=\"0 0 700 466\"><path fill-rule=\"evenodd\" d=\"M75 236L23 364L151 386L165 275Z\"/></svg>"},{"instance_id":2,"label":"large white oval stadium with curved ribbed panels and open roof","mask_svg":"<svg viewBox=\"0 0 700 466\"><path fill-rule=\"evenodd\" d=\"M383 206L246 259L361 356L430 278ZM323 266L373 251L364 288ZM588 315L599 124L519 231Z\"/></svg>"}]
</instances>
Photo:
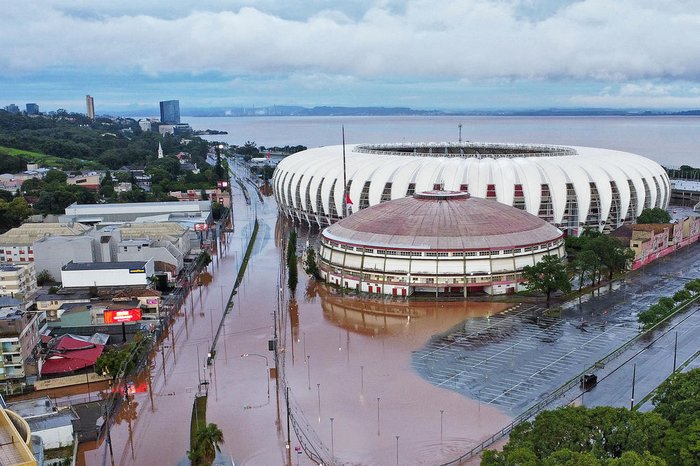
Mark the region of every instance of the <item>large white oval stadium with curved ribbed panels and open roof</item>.
<instances>
[{"instance_id":1,"label":"large white oval stadium with curved ribbed panels and open roof","mask_svg":"<svg viewBox=\"0 0 700 466\"><path fill-rule=\"evenodd\" d=\"M347 199L343 189L343 153ZM628 152L534 144L434 143L329 146L282 160L273 187L284 215L325 226L392 199L433 189L468 191L526 210L579 235L610 231L645 207L668 205L656 162ZM349 201L349 202L348 202Z\"/></svg>"}]
</instances>

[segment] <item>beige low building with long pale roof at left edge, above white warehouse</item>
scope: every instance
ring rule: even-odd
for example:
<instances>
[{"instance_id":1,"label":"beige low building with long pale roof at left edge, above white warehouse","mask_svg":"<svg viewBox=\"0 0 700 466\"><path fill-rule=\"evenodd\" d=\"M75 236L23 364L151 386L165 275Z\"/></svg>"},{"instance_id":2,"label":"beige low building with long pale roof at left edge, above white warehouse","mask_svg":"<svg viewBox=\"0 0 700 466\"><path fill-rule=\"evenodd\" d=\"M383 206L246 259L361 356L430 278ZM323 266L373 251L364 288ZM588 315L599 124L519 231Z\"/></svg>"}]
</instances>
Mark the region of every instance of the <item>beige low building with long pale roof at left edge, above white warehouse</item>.
<instances>
[{"instance_id":1,"label":"beige low building with long pale roof at left edge, above white warehouse","mask_svg":"<svg viewBox=\"0 0 700 466\"><path fill-rule=\"evenodd\" d=\"M92 227L66 223L23 223L0 235L0 263L34 262L36 241L49 236L82 236Z\"/></svg>"}]
</instances>

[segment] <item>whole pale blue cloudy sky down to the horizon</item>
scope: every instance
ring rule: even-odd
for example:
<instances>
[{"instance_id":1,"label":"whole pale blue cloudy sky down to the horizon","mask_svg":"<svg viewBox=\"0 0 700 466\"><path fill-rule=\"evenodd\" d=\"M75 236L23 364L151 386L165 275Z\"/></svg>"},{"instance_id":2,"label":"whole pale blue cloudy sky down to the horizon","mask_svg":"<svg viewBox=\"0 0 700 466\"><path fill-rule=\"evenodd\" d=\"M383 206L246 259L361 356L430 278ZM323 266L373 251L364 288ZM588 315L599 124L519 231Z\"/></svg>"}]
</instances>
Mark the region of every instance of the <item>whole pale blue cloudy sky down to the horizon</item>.
<instances>
[{"instance_id":1,"label":"whole pale blue cloudy sky down to the horizon","mask_svg":"<svg viewBox=\"0 0 700 466\"><path fill-rule=\"evenodd\" d=\"M697 0L22 0L0 107L700 108Z\"/></svg>"}]
</instances>

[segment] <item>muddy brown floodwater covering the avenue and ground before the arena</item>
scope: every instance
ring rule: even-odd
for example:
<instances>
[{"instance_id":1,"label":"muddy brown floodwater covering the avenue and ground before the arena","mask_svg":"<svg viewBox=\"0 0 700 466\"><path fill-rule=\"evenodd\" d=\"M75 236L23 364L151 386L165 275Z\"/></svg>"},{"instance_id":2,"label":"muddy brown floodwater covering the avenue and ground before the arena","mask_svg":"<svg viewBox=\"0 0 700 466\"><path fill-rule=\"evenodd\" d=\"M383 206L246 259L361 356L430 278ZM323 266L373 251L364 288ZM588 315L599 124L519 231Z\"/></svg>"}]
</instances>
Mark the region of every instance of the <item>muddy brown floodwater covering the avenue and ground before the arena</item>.
<instances>
[{"instance_id":1,"label":"muddy brown floodwater covering the avenue and ground before the arena","mask_svg":"<svg viewBox=\"0 0 700 466\"><path fill-rule=\"evenodd\" d=\"M315 464L296 453L302 447L324 464L439 464L510 422L493 407L432 385L411 366L413 352L432 335L502 305L342 296L309 284L301 266L291 297L280 272L289 225L278 220L273 200L255 202L246 206L234 191L236 232L210 266L211 282L188 297L111 425L114 464L187 464L192 403L204 387L207 421L222 430L222 450L238 466ZM258 239L214 362L206 365L255 215ZM268 350L276 333L277 378ZM104 441L82 446L78 460L112 463Z\"/></svg>"}]
</instances>

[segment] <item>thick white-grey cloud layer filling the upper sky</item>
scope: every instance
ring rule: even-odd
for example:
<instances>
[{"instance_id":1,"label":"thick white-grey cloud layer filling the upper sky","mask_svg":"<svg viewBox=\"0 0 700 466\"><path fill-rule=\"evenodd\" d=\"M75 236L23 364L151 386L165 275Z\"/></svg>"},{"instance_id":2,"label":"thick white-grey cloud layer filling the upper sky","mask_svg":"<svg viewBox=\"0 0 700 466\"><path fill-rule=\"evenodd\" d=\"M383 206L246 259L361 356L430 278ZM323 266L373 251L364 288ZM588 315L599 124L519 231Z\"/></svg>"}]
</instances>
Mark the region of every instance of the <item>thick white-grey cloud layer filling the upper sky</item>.
<instances>
[{"instance_id":1,"label":"thick white-grey cloud layer filling the upper sky","mask_svg":"<svg viewBox=\"0 0 700 466\"><path fill-rule=\"evenodd\" d=\"M143 3L13 2L0 19L0 74L96 69L600 81L700 75L700 42L692 40L700 3L693 0L539 7L527 0L205 0L194 9L192 2Z\"/></svg>"}]
</instances>

